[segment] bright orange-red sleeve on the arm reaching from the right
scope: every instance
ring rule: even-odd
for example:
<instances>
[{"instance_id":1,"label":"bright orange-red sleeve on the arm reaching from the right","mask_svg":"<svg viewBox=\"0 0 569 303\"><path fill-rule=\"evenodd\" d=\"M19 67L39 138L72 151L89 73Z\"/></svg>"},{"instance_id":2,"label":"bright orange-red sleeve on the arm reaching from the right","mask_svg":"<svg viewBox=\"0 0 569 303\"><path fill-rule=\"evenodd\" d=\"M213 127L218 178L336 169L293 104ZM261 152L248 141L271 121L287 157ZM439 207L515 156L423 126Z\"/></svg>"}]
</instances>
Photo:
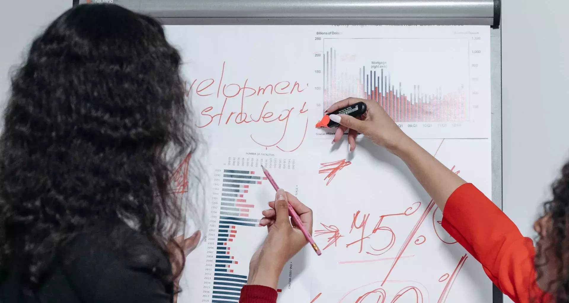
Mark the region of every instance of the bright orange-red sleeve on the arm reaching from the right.
<instances>
[{"instance_id":1,"label":"bright orange-red sleeve on the arm reaching from the right","mask_svg":"<svg viewBox=\"0 0 569 303\"><path fill-rule=\"evenodd\" d=\"M461 185L451 194L442 225L514 302L541 298L543 292L535 284L533 241L474 185Z\"/></svg>"}]
</instances>

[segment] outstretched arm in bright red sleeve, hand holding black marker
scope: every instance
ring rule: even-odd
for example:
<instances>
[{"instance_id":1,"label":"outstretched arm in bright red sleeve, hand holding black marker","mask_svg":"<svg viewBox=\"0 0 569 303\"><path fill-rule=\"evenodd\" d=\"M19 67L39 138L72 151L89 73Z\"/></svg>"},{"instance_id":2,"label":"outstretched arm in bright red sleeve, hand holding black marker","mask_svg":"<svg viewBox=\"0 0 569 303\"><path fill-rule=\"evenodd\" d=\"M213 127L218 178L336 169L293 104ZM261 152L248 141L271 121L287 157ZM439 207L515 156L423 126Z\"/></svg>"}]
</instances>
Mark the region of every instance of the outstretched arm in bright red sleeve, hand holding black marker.
<instances>
[{"instance_id":1,"label":"outstretched arm in bright red sleeve, hand holding black marker","mask_svg":"<svg viewBox=\"0 0 569 303\"><path fill-rule=\"evenodd\" d=\"M361 132L376 144L399 156L423 188L443 211L442 225L483 265L486 275L512 300L520 303L546 298L535 284L533 242L524 238L516 225L474 185L445 167L410 139L375 101L348 98L332 105L331 113L341 107L365 102L368 111L360 119L331 115L341 124L334 140L348 128L351 150L355 135Z\"/></svg>"}]
</instances>

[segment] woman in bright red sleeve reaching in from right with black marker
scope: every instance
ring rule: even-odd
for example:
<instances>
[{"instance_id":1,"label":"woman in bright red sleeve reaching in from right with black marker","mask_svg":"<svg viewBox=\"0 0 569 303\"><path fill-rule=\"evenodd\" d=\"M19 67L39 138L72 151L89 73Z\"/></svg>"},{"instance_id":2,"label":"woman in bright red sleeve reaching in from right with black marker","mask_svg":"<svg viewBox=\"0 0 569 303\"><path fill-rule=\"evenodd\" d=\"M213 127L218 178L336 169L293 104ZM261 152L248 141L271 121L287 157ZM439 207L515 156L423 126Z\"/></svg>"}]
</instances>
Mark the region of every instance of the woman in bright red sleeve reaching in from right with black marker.
<instances>
[{"instance_id":1,"label":"woman in bright red sleeve reaching in from right with black marker","mask_svg":"<svg viewBox=\"0 0 569 303\"><path fill-rule=\"evenodd\" d=\"M348 98L327 111L365 102L368 111L359 119L330 115L341 126L334 141L350 129L350 150L361 132L400 157L441 211L442 226L483 265L486 275L514 302L569 301L569 163L553 186L553 200L534 229L537 249L516 225L474 185L446 168L409 138L373 100ZM537 251L537 254L536 254Z\"/></svg>"}]
</instances>

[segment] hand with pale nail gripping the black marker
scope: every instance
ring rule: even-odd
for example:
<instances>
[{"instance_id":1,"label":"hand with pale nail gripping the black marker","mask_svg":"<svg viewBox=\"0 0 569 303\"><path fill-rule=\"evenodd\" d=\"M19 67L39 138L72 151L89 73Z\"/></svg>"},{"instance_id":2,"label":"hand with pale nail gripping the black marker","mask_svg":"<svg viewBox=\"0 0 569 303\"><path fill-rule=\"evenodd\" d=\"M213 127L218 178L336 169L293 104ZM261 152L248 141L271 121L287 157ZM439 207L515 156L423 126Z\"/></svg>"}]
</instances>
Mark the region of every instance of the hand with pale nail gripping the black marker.
<instances>
[{"instance_id":1,"label":"hand with pale nail gripping the black marker","mask_svg":"<svg viewBox=\"0 0 569 303\"><path fill-rule=\"evenodd\" d=\"M332 113L342 107L352 105L357 102L365 102L368 110L364 115L358 118L349 115L330 115L330 119L340 126L336 130L333 142L337 142L342 138L346 130L348 132L348 143L350 144L350 151L356 148L356 135L361 132L368 138L372 139L374 143L379 146L386 147L387 150L394 152L399 144L406 142L410 139L405 133L395 124L393 119L385 112L379 103L373 100L365 100L360 98L347 98L342 101L334 103L326 110L327 113Z\"/></svg>"}]
</instances>

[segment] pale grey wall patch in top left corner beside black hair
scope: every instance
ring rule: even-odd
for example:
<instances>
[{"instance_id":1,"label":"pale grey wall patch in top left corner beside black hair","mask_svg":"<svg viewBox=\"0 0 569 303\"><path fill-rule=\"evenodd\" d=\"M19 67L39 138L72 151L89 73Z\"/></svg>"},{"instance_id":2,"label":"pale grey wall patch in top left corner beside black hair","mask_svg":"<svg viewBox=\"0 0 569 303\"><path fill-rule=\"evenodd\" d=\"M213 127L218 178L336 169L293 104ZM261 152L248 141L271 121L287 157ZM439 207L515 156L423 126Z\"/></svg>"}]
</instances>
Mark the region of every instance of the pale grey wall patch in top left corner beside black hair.
<instances>
[{"instance_id":1,"label":"pale grey wall patch in top left corner beside black hair","mask_svg":"<svg viewBox=\"0 0 569 303\"><path fill-rule=\"evenodd\" d=\"M10 88L10 69L22 62L31 40L72 4L72 0L0 1L0 109Z\"/></svg>"}]
</instances>

